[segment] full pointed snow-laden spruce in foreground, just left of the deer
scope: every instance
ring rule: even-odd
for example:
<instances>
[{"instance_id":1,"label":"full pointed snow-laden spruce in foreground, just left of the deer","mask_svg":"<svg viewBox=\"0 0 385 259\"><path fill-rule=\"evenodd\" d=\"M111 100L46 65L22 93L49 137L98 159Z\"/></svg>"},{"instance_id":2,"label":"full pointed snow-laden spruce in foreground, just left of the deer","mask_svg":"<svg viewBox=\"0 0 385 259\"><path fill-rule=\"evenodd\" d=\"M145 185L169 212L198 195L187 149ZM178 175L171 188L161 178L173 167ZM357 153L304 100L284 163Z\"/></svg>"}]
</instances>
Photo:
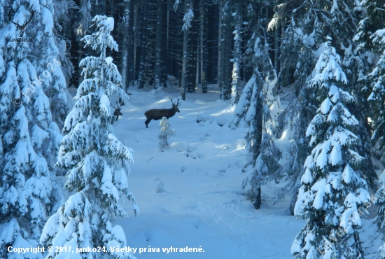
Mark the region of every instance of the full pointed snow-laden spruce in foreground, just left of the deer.
<instances>
[{"instance_id":1,"label":"full pointed snow-laden spruce in foreground, just left of the deer","mask_svg":"<svg viewBox=\"0 0 385 259\"><path fill-rule=\"evenodd\" d=\"M137 204L127 186L132 150L113 136L110 99L118 94L127 98L116 83L121 76L106 48L118 50L110 32L113 18L97 15L92 20L97 31L83 41L99 57L85 57L85 79L78 87L76 104L64 123L66 136L60 144L57 166L68 170L65 188L76 190L56 214L45 224L41 244L52 246L97 247L126 246L125 234L119 225L113 225L114 216L127 217L120 207L123 196ZM63 254L64 253L64 254ZM66 256L65 252L48 253L48 257ZM114 253L107 249L101 253L80 253L79 258L134 258L131 253Z\"/></svg>"}]
</instances>

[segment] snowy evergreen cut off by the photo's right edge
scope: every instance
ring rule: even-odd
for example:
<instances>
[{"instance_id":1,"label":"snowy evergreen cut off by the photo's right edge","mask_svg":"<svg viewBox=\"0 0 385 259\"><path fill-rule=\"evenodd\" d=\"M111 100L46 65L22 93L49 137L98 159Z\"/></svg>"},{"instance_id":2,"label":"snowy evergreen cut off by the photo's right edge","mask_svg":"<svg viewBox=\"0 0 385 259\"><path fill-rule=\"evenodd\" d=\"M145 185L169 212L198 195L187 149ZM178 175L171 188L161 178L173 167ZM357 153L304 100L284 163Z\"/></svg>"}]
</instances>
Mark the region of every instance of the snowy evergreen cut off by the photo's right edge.
<instances>
[{"instance_id":1,"label":"snowy evergreen cut off by the photo's right edge","mask_svg":"<svg viewBox=\"0 0 385 259\"><path fill-rule=\"evenodd\" d=\"M360 22L359 32L357 34L357 41L360 43L359 50L367 59L362 62L368 64L370 67L371 56L379 55L379 60L375 64L371 73L365 74L360 80L365 85L370 85L372 90L368 101L370 103L370 115L374 122L374 132L372 140L377 141L379 160L384 162L384 148L385 148L385 116L384 116L384 98L385 98L385 22L378 19L379 11L384 6L384 1L376 1L369 3L363 1L363 6L367 10L367 17ZM366 62L365 62L366 61ZM365 70L363 71L365 73ZM385 170L380 176L379 190L375 194L374 203L378 206L375 223L377 230L383 235L385 233L385 186L384 186ZM381 258L385 258L385 244L379 248Z\"/></svg>"}]
</instances>

